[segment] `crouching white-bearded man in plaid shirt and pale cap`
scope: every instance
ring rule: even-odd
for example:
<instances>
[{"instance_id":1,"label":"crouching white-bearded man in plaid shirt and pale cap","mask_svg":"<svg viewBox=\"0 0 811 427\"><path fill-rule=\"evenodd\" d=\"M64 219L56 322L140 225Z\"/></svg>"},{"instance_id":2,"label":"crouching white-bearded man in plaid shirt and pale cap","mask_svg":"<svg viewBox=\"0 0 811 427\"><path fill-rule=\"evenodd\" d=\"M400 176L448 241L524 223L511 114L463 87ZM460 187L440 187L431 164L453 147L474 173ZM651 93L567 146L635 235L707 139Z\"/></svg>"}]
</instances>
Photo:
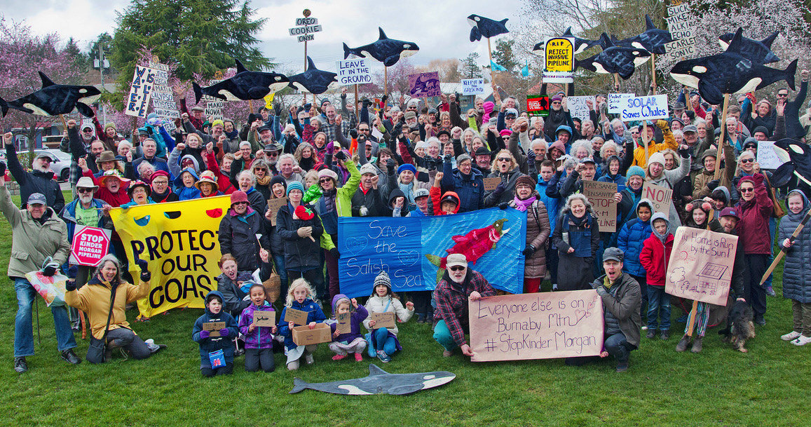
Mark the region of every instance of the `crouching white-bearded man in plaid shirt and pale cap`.
<instances>
[{"instance_id":1,"label":"crouching white-bearded man in plaid shirt and pale cap","mask_svg":"<svg viewBox=\"0 0 811 427\"><path fill-rule=\"evenodd\" d=\"M465 334L470 333L468 300L496 295L496 290L482 274L467 268L465 255L448 255L446 265L447 270L434 291L434 320L437 321L434 339L444 347L442 356L452 356L456 347L461 348L465 356L473 356L473 349L465 339Z\"/></svg>"}]
</instances>

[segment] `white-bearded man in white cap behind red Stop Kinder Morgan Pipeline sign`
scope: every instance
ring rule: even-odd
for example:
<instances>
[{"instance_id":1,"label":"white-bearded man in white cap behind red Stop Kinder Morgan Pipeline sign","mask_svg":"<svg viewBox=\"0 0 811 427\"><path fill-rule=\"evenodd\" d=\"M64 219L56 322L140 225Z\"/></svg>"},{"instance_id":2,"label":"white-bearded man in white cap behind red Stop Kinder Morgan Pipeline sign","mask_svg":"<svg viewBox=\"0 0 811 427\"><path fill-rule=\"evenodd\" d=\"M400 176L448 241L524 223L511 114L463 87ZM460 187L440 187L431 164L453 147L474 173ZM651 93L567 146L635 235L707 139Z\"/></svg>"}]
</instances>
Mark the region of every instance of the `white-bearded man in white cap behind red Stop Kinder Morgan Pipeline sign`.
<instances>
[{"instance_id":1,"label":"white-bearded man in white cap behind red Stop Kinder Morgan Pipeline sign","mask_svg":"<svg viewBox=\"0 0 811 427\"><path fill-rule=\"evenodd\" d=\"M79 178L79 182L76 183L76 200L71 201L71 203L65 206L65 209L62 209L62 212L59 213L59 218L62 218L62 221L67 224L68 243L73 242L73 234L76 226L96 226L108 230L113 229L113 220L109 218L109 211L103 209L107 205L107 202L93 198L97 189L98 186L93 184L92 179L87 176ZM74 266L75 270L73 268ZM71 264L71 268L68 270L68 276L76 279L76 288L78 289L83 287L85 283L88 283L91 270L93 270L93 267L88 265ZM71 308L71 319L74 319L74 329L77 329L78 326L79 317L75 315L77 313L78 311L76 311L75 308Z\"/></svg>"}]
</instances>

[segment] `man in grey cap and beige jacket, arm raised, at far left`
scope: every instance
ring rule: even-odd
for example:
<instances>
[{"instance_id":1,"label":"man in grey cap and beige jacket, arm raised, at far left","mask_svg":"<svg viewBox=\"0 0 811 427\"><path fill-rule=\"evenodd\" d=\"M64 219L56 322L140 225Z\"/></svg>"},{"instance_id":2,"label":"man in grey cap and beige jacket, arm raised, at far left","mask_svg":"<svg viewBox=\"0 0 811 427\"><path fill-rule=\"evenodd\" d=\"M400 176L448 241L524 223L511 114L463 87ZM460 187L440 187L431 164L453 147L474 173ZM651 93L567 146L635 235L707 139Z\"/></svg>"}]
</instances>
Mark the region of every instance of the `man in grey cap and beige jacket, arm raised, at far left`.
<instances>
[{"instance_id":1,"label":"man in grey cap and beige jacket, arm raised, at far left","mask_svg":"<svg viewBox=\"0 0 811 427\"><path fill-rule=\"evenodd\" d=\"M36 299L36 289L25 274L41 271L44 276L53 276L59 265L67 261L71 244L67 242L65 222L48 206L44 194L35 192L28 196L25 209L17 209L11 203L5 174L6 164L0 162L0 210L11 225L8 277L14 280L18 307L14 326L14 369L24 373L28 371L25 358L34 356L32 305ZM51 313L54 314L57 348L62 353L62 359L71 364L81 363L82 360L73 352L76 339L67 317L67 308L51 304Z\"/></svg>"}]
</instances>

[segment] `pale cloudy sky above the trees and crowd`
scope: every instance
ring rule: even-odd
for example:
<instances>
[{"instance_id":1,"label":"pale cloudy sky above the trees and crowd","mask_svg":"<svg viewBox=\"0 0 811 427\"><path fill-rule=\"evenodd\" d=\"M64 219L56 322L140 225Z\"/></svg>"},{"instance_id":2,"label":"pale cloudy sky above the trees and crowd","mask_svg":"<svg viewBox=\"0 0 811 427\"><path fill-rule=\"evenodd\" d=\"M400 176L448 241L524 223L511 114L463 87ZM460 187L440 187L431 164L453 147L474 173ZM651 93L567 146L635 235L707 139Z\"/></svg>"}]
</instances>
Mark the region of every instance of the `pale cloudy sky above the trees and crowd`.
<instances>
[{"instance_id":1,"label":"pale cloudy sky above the trees and crowd","mask_svg":"<svg viewBox=\"0 0 811 427\"><path fill-rule=\"evenodd\" d=\"M170 0L167 0L170 1ZM74 37L82 50L95 41L98 34L115 28L116 11L129 5L127 0L0 0L6 19L25 20L33 32L58 32L63 41ZM414 65L425 65L437 58L465 58L478 52L480 65L487 64L487 41L470 42L470 25L466 17L471 14L491 19L508 18L507 28L518 24L520 0L485 2L437 2L436 0L308 1L272 0L251 2L257 18L268 18L257 37L260 50L279 63L280 71L303 71L304 46L290 36L289 28L295 19L303 17L308 8L323 30L315 33L315 41L307 43L307 54L315 66L335 70L335 62L343 59L342 42L350 48L367 45L378 38L380 26L389 38L416 43L420 51L410 57ZM92 23L92 24L88 24ZM495 49L495 45L493 46ZM374 67L382 64L376 63Z\"/></svg>"}]
</instances>

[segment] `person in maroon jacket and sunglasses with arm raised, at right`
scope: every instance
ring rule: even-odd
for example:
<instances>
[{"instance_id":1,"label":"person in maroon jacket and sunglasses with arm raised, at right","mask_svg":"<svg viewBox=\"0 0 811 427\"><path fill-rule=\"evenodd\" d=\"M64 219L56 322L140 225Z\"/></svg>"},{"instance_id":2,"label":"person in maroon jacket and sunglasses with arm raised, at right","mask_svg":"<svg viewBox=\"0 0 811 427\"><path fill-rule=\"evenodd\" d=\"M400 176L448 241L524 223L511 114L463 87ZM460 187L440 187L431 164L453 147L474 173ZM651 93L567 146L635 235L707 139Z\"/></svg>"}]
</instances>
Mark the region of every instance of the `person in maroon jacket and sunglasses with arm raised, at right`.
<instances>
[{"instance_id":1,"label":"person in maroon jacket and sunglasses with arm raised, at right","mask_svg":"<svg viewBox=\"0 0 811 427\"><path fill-rule=\"evenodd\" d=\"M754 164L754 174L744 176L738 181L740 201L736 205L740 214L740 221L736 227L738 244L744 248L746 261L746 281L744 282L744 298L755 312L755 323L766 325L766 288L760 284L760 279L766 273L769 256L771 255L772 239L769 232L769 218L772 213L771 199L766 192L765 179L760 173L760 167Z\"/></svg>"}]
</instances>

